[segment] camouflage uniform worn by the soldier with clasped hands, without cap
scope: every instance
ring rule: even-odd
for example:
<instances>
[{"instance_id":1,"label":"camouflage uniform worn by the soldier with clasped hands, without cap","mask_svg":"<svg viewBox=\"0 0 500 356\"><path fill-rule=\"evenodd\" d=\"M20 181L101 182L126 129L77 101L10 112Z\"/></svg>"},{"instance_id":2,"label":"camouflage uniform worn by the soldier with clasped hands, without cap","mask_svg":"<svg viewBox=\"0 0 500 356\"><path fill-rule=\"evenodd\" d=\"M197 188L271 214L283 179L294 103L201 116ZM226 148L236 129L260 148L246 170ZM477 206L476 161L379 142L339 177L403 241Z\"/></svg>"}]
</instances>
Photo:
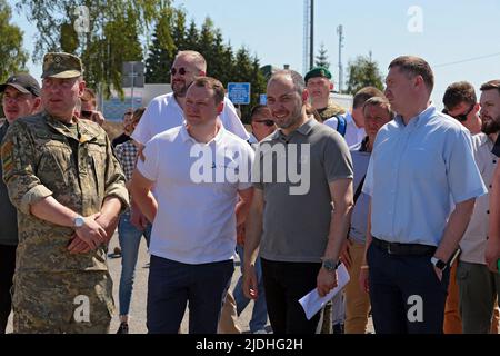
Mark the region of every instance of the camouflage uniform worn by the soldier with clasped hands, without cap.
<instances>
[{"instance_id":1,"label":"camouflage uniform worn by the soldier with clasped hands, without cap","mask_svg":"<svg viewBox=\"0 0 500 356\"><path fill-rule=\"evenodd\" d=\"M16 333L106 333L113 312L107 247L71 255L72 228L41 220L30 205L52 196L89 216L104 198L128 205L121 168L106 132L78 121L71 130L42 112L12 123L2 144L3 179L18 209Z\"/></svg>"}]
</instances>

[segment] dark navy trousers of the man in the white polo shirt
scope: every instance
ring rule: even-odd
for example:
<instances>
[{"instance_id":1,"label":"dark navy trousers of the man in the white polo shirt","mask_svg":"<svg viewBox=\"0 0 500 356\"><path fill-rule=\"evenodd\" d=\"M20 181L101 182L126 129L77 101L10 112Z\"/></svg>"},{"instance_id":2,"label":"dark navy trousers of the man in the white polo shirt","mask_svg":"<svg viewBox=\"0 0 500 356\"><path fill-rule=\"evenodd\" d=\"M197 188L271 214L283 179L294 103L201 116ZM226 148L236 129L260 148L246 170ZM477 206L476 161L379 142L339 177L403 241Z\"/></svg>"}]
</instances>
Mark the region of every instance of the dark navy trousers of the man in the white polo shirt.
<instances>
[{"instance_id":1,"label":"dark navy trousers of the man in the white polo shirt","mask_svg":"<svg viewBox=\"0 0 500 356\"><path fill-rule=\"evenodd\" d=\"M189 303L189 334L217 334L234 263L188 265L151 256L147 326L150 334L178 334Z\"/></svg>"}]
</instances>

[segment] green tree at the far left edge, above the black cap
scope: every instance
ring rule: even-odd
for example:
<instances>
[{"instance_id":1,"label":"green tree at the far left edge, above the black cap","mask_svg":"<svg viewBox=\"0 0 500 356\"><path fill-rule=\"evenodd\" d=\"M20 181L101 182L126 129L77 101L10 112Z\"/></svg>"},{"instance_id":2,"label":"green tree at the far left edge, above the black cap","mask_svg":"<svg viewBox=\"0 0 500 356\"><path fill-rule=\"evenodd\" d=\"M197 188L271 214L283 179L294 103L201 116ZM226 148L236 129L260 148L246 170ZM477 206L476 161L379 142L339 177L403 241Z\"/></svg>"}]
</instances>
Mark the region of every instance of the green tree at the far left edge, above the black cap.
<instances>
[{"instance_id":1,"label":"green tree at the far left edge, above the black cap","mask_svg":"<svg viewBox=\"0 0 500 356\"><path fill-rule=\"evenodd\" d=\"M0 0L0 82L10 75L26 70L28 53L22 49L22 31L10 23L11 8Z\"/></svg>"}]
</instances>

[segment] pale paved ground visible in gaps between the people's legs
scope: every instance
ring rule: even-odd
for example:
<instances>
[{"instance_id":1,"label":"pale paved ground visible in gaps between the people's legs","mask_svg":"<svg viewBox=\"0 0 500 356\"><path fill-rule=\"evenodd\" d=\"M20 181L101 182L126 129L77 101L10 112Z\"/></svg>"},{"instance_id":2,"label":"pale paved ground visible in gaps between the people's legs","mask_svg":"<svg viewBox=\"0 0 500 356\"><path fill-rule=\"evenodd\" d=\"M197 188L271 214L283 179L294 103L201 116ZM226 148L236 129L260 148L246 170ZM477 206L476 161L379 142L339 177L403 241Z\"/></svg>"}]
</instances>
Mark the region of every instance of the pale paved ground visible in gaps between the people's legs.
<instances>
[{"instance_id":1,"label":"pale paved ground visible in gaps between the people's legs","mask_svg":"<svg viewBox=\"0 0 500 356\"><path fill-rule=\"evenodd\" d=\"M118 245L118 237L114 236L111 240L110 251L113 250L114 246ZM139 260L136 268L136 281L134 281L134 290L132 296L132 304L130 310L130 322L129 328L131 334L146 334L146 297L148 290L148 268L149 264L149 255L146 247L146 241L142 240L140 250L139 250ZM118 326L120 325L120 320L118 317L118 287L120 283L120 273L121 273L121 258L109 258L109 268L113 279L113 296L114 304L117 306L117 313L114 313L113 319L111 322L111 333L116 333ZM236 281L240 276L239 261L237 260L237 266L234 268L234 275L232 277L232 286L234 287ZM247 307L247 309L240 315L238 319L238 325L243 333L249 333L249 322L251 318L252 312L252 303ZM269 323L267 329L269 329ZM369 330L372 332L371 320L369 324ZM10 318L9 325L7 327L7 332L12 332L12 316ZM181 325L181 332L183 334L188 333L188 318L184 315Z\"/></svg>"}]
</instances>

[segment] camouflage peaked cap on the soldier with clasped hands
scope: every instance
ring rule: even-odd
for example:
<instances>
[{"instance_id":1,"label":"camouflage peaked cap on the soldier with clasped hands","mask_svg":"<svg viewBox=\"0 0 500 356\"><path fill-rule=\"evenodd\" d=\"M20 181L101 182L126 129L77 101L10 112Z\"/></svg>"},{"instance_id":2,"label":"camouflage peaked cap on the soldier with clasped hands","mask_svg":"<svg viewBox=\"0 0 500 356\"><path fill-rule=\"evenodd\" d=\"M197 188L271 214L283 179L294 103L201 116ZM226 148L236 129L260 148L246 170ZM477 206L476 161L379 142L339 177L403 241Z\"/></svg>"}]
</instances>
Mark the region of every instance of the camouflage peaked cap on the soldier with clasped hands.
<instances>
[{"instance_id":1,"label":"camouflage peaked cap on the soldier with clasped hands","mask_svg":"<svg viewBox=\"0 0 500 356\"><path fill-rule=\"evenodd\" d=\"M83 65L77 56L50 52L43 57L42 78L76 78L83 75Z\"/></svg>"}]
</instances>

